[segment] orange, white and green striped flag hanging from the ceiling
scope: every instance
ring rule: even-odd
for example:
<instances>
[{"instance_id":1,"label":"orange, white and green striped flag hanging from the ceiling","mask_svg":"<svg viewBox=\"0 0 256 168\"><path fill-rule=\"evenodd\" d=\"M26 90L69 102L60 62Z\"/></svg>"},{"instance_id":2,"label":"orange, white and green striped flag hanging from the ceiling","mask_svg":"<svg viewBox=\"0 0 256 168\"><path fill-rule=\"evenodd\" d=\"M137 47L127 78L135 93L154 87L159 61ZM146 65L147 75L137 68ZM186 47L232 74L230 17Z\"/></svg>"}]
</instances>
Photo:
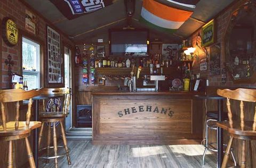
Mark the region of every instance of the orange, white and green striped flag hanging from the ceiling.
<instances>
[{"instance_id":1,"label":"orange, white and green striped flag hanging from the ceiling","mask_svg":"<svg viewBox=\"0 0 256 168\"><path fill-rule=\"evenodd\" d=\"M154 0L143 0L140 22L153 29L173 33L192 13L163 5Z\"/></svg>"}]
</instances>

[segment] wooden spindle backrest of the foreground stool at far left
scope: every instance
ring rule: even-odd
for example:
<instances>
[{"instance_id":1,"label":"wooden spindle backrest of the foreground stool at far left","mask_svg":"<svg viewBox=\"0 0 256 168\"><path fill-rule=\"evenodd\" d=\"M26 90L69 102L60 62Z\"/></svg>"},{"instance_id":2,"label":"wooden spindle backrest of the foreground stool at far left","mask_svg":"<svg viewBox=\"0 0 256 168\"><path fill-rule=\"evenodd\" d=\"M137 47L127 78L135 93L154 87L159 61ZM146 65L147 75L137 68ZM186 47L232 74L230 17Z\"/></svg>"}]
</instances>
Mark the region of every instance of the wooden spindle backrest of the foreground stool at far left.
<instances>
[{"instance_id":1,"label":"wooden spindle backrest of the foreground stool at far left","mask_svg":"<svg viewBox=\"0 0 256 168\"><path fill-rule=\"evenodd\" d=\"M31 116L31 106L32 106L32 98L38 96L39 90L30 90L25 91L22 89L8 89L8 90L0 90L0 102L1 102L1 112L2 112L2 126L4 131L6 131L6 113L5 113L5 103L16 102L15 104L15 130L19 129L19 117L20 117L20 103L21 100L29 99L28 102L28 110L26 114L26 127L29 127L30 116Z\"/></svg>"}]
</instances>

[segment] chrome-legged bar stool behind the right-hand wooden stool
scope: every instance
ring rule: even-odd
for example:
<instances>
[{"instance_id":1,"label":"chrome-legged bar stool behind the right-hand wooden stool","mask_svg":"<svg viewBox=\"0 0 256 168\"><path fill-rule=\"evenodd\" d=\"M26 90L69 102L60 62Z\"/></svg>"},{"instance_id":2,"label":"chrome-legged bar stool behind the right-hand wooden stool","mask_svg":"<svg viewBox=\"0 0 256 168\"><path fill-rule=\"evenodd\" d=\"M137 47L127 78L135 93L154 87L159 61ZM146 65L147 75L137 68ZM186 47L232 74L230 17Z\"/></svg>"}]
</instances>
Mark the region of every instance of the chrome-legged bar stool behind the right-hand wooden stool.
<instances>
[{"instance_id":1,"label":"chrome-legged bar stool behind the right-hand wooden stool","mask_svg":"<svg viewBox=\"0 0 256 168\"><path fill-rule=\"evenodd\" d=\"M218 120L218 111L207 111L206 112L206 121L205 121L205 149L203 154L203 165L205 160L205 155L207 153L207 150L211 150L213 152L218 152L217 148L214 147L214 145L217 145L217 142L209 142L209 129L211 130L217 130L217 120ZM228 114L223 113L224 120L228 120ZM224 144L224 146L227 146ZM236 166L236 159L233 154L233 151L231 150L231 156L233 159L233 162Z\"/></svg>"}]
</instances>

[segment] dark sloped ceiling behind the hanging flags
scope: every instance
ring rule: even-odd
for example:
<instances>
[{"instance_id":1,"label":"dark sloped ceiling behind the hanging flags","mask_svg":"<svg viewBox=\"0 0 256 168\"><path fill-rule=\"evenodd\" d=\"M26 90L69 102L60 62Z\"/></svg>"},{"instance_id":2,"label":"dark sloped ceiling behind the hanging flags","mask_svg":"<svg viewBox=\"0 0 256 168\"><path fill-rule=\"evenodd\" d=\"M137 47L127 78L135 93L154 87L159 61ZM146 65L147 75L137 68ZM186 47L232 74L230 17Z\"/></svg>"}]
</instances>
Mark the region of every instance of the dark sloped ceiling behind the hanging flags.
<instances>
[{"instance_id":1,"label":"dark sloped ceiling behind the hanging flags","mask_svg":"<svg viewBox=\"0 0 256 168\"><path fill-rule=\"evenodd\" d=\"M108 40L108 29L123 28L127 26L124 0L114 0L113 4L99 11L82 15L76 19L68 20L49 0L23 0L34 10L41 13L61 31L65 32L76 43L91 43L101 38ZM157 0L167 6L194 11L193 15L174 34L165 34L150 29L138 20L140 18L142 0L135 0L135 12L132 16L132 26L135 28L148 28L150 39L161 39L168 43L178 43L187 38L204 23L214 18L220 11L236 0L201 0L195 9L173 5L166 0ZM96 42L96 41L94 41Z\"/></svg>"}]
</instances>

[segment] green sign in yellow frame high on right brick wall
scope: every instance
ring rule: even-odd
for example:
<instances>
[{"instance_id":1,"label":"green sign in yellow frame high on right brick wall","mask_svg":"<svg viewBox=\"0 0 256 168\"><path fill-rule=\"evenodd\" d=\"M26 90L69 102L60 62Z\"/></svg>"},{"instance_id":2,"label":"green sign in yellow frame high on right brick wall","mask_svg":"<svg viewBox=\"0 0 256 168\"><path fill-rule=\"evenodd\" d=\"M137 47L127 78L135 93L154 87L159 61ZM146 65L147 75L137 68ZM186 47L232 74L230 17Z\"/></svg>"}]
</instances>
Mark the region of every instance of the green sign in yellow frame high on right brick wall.
<instances>
[{"instance_id":1,"label":"green sign in yellow frame high on right brick wall","mask_svg":"<svg viewBox=\"0 0 256 168\"><path fill-rule=\"evenodd\" d=\"M215 41L215 21L211 20L203 26L202 47L209 46Z\"/></svg>"}]
</instances>

